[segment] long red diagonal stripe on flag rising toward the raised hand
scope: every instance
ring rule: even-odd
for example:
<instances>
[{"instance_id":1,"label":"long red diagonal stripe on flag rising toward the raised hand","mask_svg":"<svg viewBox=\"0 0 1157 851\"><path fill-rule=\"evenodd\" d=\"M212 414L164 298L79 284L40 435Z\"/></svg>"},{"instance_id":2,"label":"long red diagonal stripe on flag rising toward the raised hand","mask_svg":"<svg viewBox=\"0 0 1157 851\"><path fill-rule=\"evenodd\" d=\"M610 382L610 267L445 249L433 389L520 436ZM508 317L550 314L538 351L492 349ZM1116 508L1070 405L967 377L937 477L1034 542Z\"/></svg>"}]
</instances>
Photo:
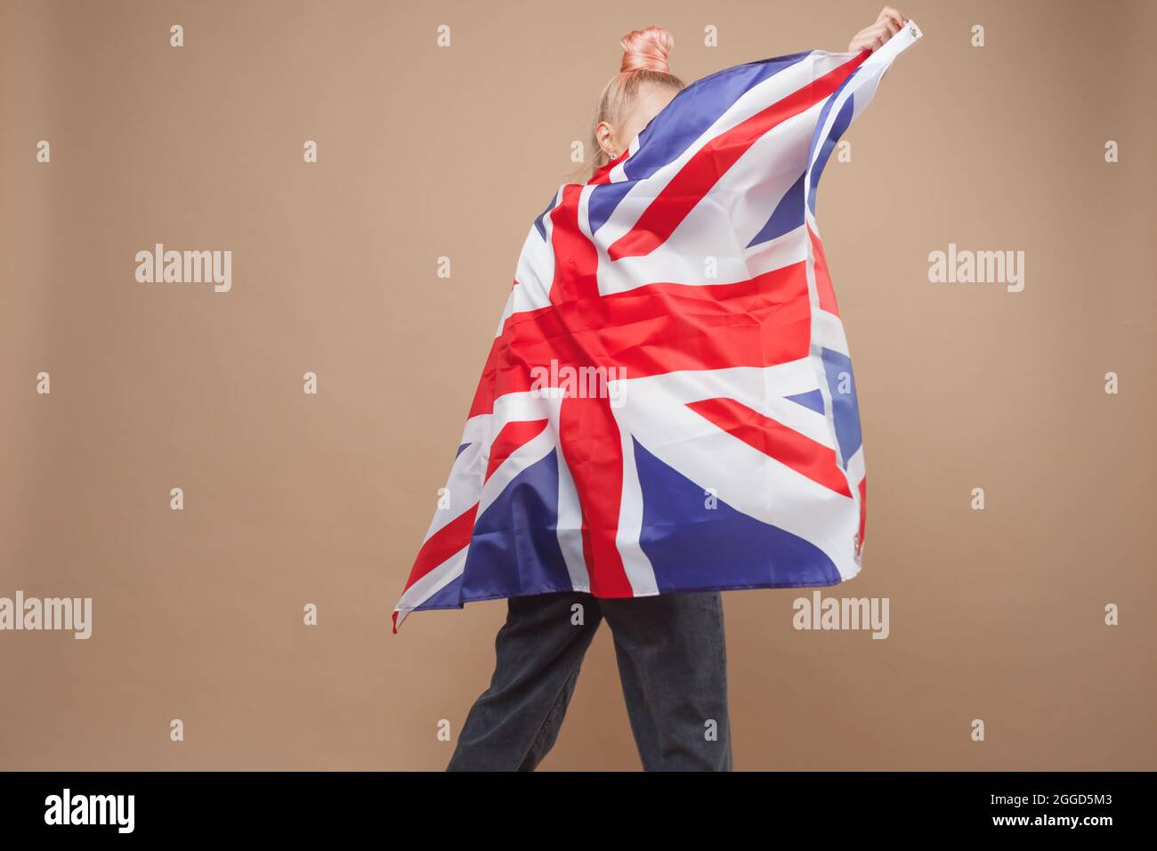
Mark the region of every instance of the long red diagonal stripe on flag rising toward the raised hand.
<instances>
[{"instance_id":1,"label":"long red diagonal stripe on flag rising toward the raised hand","mask_svg":"<svg viewBox=\"0 0 1157 851\"><path fill-rule=\"evenodd\" d=\"M622 257L643 257L663 244L757 139L778 124L830 97L869 56L867 51L857 53L840 67L833 68L818 80L812 80L707 142L671 178L639 217L634 227L607 249L607 256L612 261Z\"/></svg>"}]
</instances>

